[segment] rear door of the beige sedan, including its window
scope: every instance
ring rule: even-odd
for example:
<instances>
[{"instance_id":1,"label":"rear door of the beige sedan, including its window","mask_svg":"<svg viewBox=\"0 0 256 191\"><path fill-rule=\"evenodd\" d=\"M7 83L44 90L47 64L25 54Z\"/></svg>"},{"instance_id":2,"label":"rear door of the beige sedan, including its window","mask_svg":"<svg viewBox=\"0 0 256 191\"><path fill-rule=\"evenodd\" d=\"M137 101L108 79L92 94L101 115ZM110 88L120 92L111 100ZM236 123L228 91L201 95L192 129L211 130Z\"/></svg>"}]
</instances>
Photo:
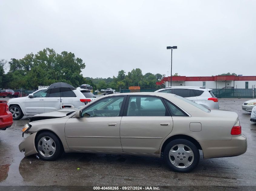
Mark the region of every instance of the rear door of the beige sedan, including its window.
<instances>
[{"instance_id":1,"label":"rear door of the beige sedan, including its window","mask_svg":"<svg viewBox=\"0 0 256 191\"><path fill-rule=\"evenodd\" d=\"M173 122L161 97L128 96L121 119L124 152L158 154Z\"/></svg>"}]
</instances>

